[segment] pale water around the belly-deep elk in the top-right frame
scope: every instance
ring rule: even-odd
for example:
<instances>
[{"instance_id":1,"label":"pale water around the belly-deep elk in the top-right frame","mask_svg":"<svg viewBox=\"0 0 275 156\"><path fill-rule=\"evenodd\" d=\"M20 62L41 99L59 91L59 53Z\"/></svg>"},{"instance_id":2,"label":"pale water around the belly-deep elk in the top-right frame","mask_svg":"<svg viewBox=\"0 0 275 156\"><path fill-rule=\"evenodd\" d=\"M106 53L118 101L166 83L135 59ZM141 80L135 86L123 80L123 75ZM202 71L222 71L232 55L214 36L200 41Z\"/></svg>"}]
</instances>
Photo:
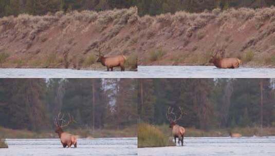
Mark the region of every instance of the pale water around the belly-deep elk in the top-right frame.
<instances>
[{"instance_id":1,"label":"pale water around the belly-deep elk in the top-right frame","mask_svg":"<svg viewBox=\"0 0 275 156\"><path fill-rule=\"evenodd\" d=\"M218 69L215 66L138 66L140 77L151 78L274 78L275 68Z\"/></svg>"}]
</instances>

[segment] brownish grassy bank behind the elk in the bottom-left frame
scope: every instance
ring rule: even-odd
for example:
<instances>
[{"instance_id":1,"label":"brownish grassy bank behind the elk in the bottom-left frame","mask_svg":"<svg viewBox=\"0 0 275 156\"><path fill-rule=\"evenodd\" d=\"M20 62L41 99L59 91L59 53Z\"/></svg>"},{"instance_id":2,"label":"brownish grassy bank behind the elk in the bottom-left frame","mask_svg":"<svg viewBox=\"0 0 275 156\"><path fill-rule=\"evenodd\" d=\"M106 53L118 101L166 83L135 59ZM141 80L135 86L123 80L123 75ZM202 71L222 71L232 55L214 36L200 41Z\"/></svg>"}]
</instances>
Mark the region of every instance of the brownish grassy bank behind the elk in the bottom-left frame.
<instances>
[{"instance_id":1,"label":"brownish grassy bank behind the elk in the bottom-left frame","mask_svg":"<svg viewBox=\"0 0 275 156\"><path fill-rule=\"evenodd\" d=\"M64 131L78 135L79 138L130 138L137 136L136 126L124 129L65 129ZM29 130L14 130L0 127L0 134L6 139L44 139L58 138L57 133L52 131L33 132Z\"/></svg>"}]
</instances>

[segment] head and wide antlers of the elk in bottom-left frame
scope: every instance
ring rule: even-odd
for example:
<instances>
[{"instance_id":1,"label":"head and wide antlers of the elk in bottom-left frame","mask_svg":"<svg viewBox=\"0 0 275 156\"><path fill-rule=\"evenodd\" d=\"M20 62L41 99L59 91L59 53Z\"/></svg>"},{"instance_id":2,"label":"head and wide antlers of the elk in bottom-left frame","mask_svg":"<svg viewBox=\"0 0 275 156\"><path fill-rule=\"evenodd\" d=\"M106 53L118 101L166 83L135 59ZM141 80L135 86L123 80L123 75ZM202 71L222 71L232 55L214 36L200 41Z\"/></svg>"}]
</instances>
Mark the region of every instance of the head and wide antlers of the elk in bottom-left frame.
<instances>
[{"instance_id":1,"label":"head and wide antlers of the elk in bottom-left frame","mask_svg":"<svg viewBox=\"0 0 275 156\"><path fill-rule=\"evenodd\" d=\"M61 134L62 128L67 127L70 123L75 122L74 117L68 113L68 119L64 119L65 114L58 113L58 116L54 118L54 125L56 126L55 132Z\"/></svg>"}]
</instances>

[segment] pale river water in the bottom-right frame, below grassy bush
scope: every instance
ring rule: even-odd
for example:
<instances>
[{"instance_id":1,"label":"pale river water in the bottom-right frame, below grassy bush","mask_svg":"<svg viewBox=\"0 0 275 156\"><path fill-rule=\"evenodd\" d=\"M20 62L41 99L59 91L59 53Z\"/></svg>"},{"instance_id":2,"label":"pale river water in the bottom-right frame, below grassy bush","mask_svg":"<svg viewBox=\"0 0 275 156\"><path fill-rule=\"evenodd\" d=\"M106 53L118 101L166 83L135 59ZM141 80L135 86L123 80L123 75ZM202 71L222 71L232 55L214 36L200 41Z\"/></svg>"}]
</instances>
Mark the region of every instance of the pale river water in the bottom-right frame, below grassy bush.
<instances>
[{"instance_id":1,"label":"pale river water in the bottom-right frame, below grassy bush","mask_svg":"<svg viewBox=\"0 0 275 156\"><path fill-rule=\"evenodd\" d=\"M186 137L184 147L138 148L138 155L275 155L275 137Z\"/></svg>"}]
</instances>

